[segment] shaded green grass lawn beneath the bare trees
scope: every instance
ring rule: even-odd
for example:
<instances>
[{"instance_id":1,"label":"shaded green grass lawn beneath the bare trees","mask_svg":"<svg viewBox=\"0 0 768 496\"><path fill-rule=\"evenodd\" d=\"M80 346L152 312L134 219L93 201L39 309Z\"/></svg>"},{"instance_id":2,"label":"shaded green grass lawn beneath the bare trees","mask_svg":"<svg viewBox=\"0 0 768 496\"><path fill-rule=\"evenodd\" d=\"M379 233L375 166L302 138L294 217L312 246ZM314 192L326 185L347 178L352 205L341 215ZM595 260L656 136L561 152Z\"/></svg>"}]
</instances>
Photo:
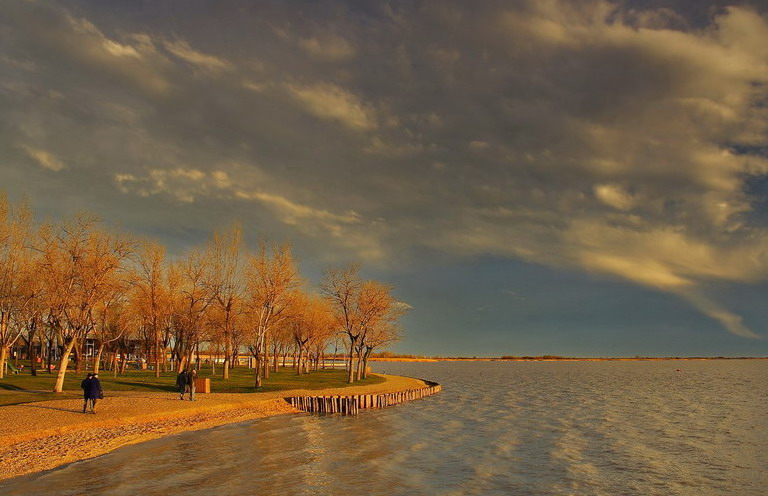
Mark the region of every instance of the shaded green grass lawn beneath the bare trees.
<instances>
[{"instance_id":1,"label":"shaded green grass lawn beneath the bare trees","mask_svg":"<svg viewBox=\"0 0 768 496\"><path fill-rule=\"evenodd\" d=\"M198 377L211 379L211 392L214 393L253 393L254 371L247 367L230 369L229 380L221 378L221 367L216 368L216 376L211 375L210 367L203 367ZM30 403L33 401L45 401L50 399L82 397L80 381L85 378L86 371L75 372L74 367L67 369L64 380L64 392L54 394L53 385L56 382L56 373L49 374L46 371L37 371L37 376L29 372L28 364L19 374L9 373L0 380L0 406ZM125 375L114 376L108 370L99 373L99 380L104 391L154 391L175 392L176 374L173 372L161 373L155 377L152 370L127 369ZM355 385L377 384L384 382L384 378L370 376ZM296 375L293 369L281 368L278 372L271 372L269 379L258 391L284 391L288 389L324 389L343 388L347 384L347 373L339 369L321 369L309 374Z\"/></svg>"}]
</instances>

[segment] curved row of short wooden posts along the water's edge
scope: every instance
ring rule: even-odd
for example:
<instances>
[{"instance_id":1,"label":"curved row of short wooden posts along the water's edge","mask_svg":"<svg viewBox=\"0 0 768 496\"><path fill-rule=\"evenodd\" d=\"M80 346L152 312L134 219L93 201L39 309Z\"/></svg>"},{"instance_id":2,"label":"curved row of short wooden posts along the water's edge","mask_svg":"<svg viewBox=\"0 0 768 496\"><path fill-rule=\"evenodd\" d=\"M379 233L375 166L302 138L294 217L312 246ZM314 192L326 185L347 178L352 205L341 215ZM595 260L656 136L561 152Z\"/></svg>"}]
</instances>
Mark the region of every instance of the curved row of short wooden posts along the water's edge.
<instances>
[{"instance_id":1,"label":"curved row of short wooden posts along the water's edge","mask_svg":"<svg viewBox=\"0 0 768 496\"><path fill-rule=\"evenodd\" d=\"M354 415L361 409L384 408L405 403L440 391L440 384L424 381L426 387L396 393L355 394L349 396L293 396L285 398L291 406L303 412L344 413Z\"/></svg>"}]
</instances>

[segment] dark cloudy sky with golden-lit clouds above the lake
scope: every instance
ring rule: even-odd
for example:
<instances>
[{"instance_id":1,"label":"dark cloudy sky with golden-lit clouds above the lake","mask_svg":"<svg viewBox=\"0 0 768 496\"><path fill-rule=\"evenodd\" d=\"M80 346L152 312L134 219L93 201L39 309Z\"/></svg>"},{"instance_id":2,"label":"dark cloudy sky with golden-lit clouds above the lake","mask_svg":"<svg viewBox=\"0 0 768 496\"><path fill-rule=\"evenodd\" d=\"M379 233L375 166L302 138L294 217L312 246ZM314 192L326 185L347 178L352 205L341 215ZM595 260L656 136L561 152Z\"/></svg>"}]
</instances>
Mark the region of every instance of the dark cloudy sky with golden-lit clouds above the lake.
<instances>
[{"instance_id":1,"label":"dark cloudy sky with golden-lit clouds above the lake","mask_svg":"<svg viewBox=\"0 0 768 496\"><path fill-rule=\"evenodd\" d=\"M0 1L0 188L360 263L400 353L768 356L764 1Z\"/></svg>"}]
</instances>

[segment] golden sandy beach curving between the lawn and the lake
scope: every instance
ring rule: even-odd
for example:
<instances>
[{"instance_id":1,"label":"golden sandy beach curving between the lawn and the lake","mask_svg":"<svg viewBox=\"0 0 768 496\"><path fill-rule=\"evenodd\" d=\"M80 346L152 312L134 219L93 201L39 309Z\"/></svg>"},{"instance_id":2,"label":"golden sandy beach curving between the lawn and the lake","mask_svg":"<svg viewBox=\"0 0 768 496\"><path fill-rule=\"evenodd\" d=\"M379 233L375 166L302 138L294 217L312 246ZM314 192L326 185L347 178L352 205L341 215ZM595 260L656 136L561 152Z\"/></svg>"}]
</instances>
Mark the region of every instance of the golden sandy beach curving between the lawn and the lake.
<instances>
[{"instance_id":1,"label":"golden sandy beach curving between the lawn and the lake","mask_svg":"<svg viewBox=\"0 0 768 496\"><path fill-rule=\"evenodd\" d=\"M392 395L433 385L377 375L386 381L321 390L198 394L194 402L180 401L177 393L107 392L96 415L83 414L80 399L0 407L0 481L181 432L301 412L286 397Z\"/></svg>"}]
</instances>

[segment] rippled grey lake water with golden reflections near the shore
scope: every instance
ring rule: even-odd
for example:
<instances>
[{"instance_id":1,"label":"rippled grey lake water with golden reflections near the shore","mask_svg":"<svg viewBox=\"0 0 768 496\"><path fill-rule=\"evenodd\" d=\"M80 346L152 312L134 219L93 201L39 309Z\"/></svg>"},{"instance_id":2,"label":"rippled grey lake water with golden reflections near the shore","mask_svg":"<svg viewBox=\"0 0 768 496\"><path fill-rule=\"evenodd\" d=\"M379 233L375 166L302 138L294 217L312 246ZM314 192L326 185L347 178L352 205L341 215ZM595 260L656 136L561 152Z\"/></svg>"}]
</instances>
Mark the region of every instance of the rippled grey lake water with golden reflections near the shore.
<instances>
[{"instance_id":1,"label":"rippled grey lake water with golden reflections near the shore","mask_svg":"<svg viewBox=\"0 0 768 496\"><path fill-rule=\"evenodd\" d=\"M436 396L121 448L9 495L763 495L768 361L377 363Z\"/></svg>"}]
</instances>

